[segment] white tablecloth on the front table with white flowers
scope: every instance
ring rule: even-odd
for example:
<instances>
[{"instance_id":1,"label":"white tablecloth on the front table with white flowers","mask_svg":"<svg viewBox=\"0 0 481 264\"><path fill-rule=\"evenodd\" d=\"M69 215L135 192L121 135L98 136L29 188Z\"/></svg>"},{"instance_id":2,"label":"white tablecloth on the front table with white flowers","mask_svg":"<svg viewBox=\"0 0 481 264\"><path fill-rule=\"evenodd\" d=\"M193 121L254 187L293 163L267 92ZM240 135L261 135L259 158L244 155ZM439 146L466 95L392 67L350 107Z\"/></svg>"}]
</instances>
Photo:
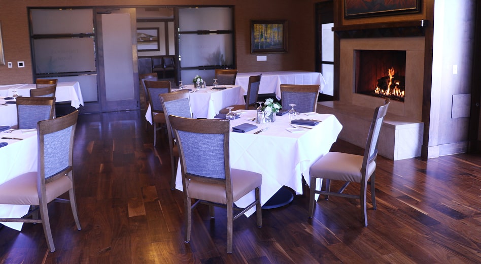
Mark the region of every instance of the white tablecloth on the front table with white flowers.
<instances>
[{"instance_id":1,"label":"white tablecloth on the front table with white flowers","mask_svg":"<svg viewBox=\"0 0 481 264\"><path fill-rule=\"evenodd\" d=\"M262 174L261 203L265 204L282 186L292 188L296 194L302 194L302 176L310 183L309 167L321 156L329 152L337 139L342 125L334 115L314 114L299 118L321 120L313 129L304 129L291 133L287 115L277 116L276 122L256 124L246 119L255 116L254 110L243 113L240 118L231 121L231 127L242 123L251 123L257 129L247 133L230 133L230 166L234 169L254 171ZM255 131L268 127L262 133ZM180 162L177 168L176 188L182 190ZM245 207L254 201L254 191L242 197L235 204ZM249 210L250 216L255 208Z\"/></svg>"}]
</instances>

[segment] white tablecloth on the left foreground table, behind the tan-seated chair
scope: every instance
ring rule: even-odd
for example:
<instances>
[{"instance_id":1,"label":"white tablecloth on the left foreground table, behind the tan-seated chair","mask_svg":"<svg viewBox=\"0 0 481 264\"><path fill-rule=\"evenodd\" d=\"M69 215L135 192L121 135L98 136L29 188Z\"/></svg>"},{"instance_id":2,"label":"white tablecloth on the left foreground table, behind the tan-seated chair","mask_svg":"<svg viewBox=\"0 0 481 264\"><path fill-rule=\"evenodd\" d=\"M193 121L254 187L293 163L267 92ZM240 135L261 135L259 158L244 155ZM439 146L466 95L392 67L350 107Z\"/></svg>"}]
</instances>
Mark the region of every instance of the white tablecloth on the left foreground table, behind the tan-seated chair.
<instances>
[{"instance_id":1,"label":"white tablecloth on the left foreground table, behind the tan-seated chair","mask_svg":"<svg viewBox=\"0 0 481 264\"><path fill-rule=\"evenodd\" d=\"M0 139L0 142L8 143L7 146L0 148L0 168L2 170L0 184L23 173L37 171L37 131L0 132L0 136L23 139ZM0 217L19 218L24 216L29 208L28 205L0 205ZM22 223L3 222L3 224L17 230L22 229Z\"/></svg>"}]
</instances>

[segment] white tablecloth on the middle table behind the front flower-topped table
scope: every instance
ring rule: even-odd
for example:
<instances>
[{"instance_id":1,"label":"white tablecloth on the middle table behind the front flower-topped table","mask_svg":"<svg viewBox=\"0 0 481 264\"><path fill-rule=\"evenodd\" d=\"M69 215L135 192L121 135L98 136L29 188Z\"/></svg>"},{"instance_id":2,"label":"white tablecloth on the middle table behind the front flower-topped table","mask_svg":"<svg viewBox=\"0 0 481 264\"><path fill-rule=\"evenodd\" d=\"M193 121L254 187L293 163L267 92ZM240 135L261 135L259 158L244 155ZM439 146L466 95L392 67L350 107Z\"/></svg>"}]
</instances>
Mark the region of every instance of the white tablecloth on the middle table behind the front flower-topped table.
<instances>
[{"instance_id":1,"label":"white tablecloth on the middle table behind the front flower-topped table","mask_svg":"<svg viewBox=\"0 0 481 264\"><path fill-rule=\"evenodd\" d=\"M194 118L214 118L220 110L231 105L245 105L243 90L240 86L226 86L225 90L212 90L213 86L196 91L194 85L186 85L189 93L190 108ZM178 89L173 89L176 91ZM152 124L152 110L147 107L145 118Z\"/></svg>"}]
</instances>

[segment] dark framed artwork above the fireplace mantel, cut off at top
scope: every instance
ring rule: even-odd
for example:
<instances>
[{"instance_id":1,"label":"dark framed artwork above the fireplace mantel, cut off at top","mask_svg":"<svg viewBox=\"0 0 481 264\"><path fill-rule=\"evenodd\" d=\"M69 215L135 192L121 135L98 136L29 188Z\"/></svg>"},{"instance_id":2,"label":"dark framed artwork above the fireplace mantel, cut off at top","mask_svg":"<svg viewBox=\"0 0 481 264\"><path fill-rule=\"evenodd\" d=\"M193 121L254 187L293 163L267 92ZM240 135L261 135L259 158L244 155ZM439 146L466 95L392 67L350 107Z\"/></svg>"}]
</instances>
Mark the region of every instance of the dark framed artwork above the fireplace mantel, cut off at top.
<instances>
[{"instance_id":1,"label":"dark framed artwork above the fireplace mantel, cut off at top","mask_svg":"<svg viewBox=\"0 0 481 264\"><path fill-rule=\"evenodd\" d=\"M359 18L421 12L421 0L344 0L344 17Z\"/></svg>"}]
</instances>

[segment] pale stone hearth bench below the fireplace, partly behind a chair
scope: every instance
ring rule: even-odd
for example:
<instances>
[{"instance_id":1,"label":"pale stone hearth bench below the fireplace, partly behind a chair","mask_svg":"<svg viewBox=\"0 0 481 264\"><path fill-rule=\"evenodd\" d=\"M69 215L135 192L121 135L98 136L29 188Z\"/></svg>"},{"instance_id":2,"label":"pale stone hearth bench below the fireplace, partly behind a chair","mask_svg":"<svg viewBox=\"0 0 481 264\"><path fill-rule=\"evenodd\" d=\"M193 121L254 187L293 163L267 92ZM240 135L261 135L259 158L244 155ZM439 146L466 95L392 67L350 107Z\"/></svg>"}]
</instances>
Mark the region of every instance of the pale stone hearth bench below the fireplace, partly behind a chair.
<instances>
[{"instance_id":1,"label":"pale stone hearth bench below the fireplace, partly behind a chair","mask_svg":"<svg viewBox=\"0 0 481 264\"><path fill-rule=\"evenodd\" d=\"M364 148L374 107L355 106L339 101L319 102L317 112L333 114L342 124L339 139ZM379 154L392 159L421 156L424 124L421 121L388 113L378 144Z\"/></svg>"}]
</instances>

